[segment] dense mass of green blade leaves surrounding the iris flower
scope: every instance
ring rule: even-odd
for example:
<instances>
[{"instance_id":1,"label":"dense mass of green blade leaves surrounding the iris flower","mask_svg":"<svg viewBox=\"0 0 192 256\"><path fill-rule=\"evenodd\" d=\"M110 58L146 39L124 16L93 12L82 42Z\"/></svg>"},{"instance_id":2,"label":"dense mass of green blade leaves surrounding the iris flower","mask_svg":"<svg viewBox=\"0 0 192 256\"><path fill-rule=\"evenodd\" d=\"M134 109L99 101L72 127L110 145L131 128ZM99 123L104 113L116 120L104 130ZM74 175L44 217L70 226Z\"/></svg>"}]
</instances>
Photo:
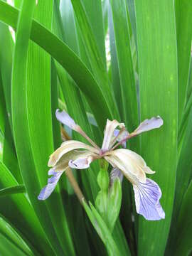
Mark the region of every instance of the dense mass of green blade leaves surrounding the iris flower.
<instances>
[{"instance_id":1,"label":"dense mass of green blade leaves surrounding the iris flower","mask_svg":"<svg viewBox=\"0 0 192 256\"><path fill-rule=\"evenodd\" d=\"M12 4L0 0L0 254L190 255L192 1ZM128 146L156 171L165 220L138 216L124 180L111 231L94 206L97 163L74 172L90 207L80 205L65 175L47 201L38 201L48 156L61 143L58 107L99 145L107 118L129 131L146 118L164 119L161 130Z\"/></svg>"}]
</instances>

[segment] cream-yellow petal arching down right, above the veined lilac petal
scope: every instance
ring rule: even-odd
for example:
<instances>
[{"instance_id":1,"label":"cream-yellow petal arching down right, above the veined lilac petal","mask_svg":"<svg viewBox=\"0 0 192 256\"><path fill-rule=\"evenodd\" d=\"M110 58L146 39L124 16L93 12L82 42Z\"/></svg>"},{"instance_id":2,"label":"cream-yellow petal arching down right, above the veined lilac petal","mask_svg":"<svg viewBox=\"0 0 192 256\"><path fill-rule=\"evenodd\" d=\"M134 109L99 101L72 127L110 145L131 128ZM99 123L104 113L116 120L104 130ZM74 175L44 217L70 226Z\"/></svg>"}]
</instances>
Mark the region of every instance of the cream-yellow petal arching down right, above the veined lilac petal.
<instances>
[{"instance_id":1,"label":"cream-yellow petal arching down right, above the veined lilac petal","mask_svg":"<svg viewBox=\"0 0 192 256\"><path fill-rule=\"evenodd\" d=\"M135 178L137 178L145 183L147 166L138 154L129 149L116 149L107 152L104 157L112 166L119 168L130 182L134 183ZM149 169L149 167L147 168Z\"/></svg>"}]
</instances>

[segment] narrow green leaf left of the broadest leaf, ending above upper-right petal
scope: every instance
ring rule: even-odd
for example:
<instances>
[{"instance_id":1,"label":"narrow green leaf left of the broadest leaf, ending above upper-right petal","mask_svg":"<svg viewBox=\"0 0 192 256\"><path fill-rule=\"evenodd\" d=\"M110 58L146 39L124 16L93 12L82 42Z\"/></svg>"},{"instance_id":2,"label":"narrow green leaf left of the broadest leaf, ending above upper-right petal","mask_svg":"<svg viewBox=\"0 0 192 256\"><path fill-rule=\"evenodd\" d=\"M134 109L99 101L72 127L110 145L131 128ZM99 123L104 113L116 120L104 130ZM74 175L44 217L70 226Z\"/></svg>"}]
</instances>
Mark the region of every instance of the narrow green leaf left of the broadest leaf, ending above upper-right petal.
<instances>
[{"instance_id":1,"label":"narrow green leaf left of the broadest leaf, ending above upper-right petal","mask_svg":"<svg viewBox=\"0 0 192 256\"><path fill-rule=\"evenodd\" d=\"M111 6L124 110L123 120L132 131L138 125L138 111L126 3L124 0L111 0Z\"/></svg>"}]
</instances>

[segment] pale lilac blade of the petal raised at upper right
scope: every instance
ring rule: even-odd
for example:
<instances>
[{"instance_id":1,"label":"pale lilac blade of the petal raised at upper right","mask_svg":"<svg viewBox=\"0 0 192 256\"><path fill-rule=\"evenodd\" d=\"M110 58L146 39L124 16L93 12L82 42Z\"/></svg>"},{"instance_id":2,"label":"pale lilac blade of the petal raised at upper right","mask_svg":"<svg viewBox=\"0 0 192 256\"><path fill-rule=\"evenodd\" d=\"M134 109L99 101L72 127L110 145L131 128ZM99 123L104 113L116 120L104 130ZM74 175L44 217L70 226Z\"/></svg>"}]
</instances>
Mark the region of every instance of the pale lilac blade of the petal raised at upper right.
<instances>
[{"instance_id":1,"label":"pale lilac blade of the petal raised at upper right","mask_svg":"<svg viewBox=\"0 0 192 256\"><path fill-rule=\"evenodd\" d=\"M139 127L134 130L132 134L141 134L142 132L150 131L151 129L156 129L161 127L164 124L164 121L161 117L152 117L151 119L146 119L144 122L139 124Z\"/></svg>"}]
</instances>

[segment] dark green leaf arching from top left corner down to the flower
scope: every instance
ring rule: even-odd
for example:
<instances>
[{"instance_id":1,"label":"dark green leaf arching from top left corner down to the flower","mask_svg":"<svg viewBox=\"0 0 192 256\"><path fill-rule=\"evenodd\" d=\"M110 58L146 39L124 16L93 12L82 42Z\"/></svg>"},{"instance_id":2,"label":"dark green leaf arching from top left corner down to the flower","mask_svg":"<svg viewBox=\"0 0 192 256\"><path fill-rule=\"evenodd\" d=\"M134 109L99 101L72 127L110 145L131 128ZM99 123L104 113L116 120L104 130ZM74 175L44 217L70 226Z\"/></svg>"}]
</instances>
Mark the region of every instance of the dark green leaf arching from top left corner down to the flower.
<instances>
[{"instance_id":1,"label":"dark green leaf arching from top left corner down to the flower","mask_svg":"<svg viewBox=\"0 0 192 256\"><path fill-rule=\"evenodd\" d=\"M0 20L16 29L17 18L18 11L3 1L0 1ZM107 107L107 102L102 95L100 87L98 87L95 78L84 63L81 62L78 56L65 43L36 21L33 21L32 24L31 39L50 53L68 71L80 87L80 90L85 93L87 102L92 107L92 112L95 114L97 123L100 129L103 130L106 119L112 118L112 114L110 113L109 107ZM98 106L102 108L102 117L100 111L98 111Z\"/></svg>"}]
</instances>

